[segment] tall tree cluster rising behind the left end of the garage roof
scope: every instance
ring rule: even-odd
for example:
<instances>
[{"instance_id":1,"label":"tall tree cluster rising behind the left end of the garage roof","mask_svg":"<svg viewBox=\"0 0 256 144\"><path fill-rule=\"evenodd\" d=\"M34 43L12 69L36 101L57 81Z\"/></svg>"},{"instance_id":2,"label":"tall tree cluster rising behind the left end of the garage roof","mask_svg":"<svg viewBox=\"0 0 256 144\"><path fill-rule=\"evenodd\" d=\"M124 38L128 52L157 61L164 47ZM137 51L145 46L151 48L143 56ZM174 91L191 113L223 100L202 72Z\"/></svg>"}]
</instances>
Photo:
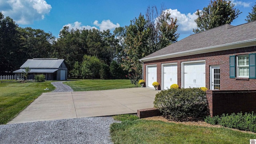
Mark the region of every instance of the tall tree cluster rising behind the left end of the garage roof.
<instances>
[{"instance_id":1,"label":"tall tree cluster rising behind the left end of the garage roof","mask_svg":"<svg viewBox=\"0 0 256 144\"><path fill-rule=\"evenodd\" d=\"M176 42L179 34L177 19L172 18L168 10L148 7L146 18L140 14L131 20L129 26L116 28L114 34L119 40L119 56L122 68L128 71L133 84L142 78L142 62L139 59Z\"/></svg>"}]
</instances>

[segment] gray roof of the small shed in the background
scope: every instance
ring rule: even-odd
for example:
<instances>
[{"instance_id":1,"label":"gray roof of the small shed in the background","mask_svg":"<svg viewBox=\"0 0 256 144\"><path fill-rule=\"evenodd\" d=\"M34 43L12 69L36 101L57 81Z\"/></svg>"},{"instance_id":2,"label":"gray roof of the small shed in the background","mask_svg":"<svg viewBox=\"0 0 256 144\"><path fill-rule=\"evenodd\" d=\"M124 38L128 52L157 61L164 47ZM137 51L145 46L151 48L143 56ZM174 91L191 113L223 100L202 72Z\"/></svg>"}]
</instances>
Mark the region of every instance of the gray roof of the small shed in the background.
<instances>
[{"instance_id":1,"label":"gray roof of the small shed in the background","mask_svg":"<svg viewBox=\"0 0 256 144\"><path fill-rule=\"evenodd\" d=\"M34 58L27 60L20 68L59 68L64 59L56 58Z\"/></svg>"}]
</instances>

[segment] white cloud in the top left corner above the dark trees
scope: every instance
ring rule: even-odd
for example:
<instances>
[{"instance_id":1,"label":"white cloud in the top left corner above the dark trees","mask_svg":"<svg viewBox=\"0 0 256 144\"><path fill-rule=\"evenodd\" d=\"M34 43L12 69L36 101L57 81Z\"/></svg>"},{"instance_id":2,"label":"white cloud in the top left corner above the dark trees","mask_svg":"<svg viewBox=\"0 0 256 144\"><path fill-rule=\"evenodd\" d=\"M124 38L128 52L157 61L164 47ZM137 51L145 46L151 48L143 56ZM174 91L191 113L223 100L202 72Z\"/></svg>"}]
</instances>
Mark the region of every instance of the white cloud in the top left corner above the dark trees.
<instances>
[{"instance_id":1,"label":"white cloud in the top left corner above the dark trees","mask_svg":"<svg viewBox=\"0 0 256 144\"><path fill-rule=\"evenodd\" d=\"M0 0L0 10L18 24L32 24L34 20L44 19L52 6L45 0Z\"/></svg>"}]
</instances>

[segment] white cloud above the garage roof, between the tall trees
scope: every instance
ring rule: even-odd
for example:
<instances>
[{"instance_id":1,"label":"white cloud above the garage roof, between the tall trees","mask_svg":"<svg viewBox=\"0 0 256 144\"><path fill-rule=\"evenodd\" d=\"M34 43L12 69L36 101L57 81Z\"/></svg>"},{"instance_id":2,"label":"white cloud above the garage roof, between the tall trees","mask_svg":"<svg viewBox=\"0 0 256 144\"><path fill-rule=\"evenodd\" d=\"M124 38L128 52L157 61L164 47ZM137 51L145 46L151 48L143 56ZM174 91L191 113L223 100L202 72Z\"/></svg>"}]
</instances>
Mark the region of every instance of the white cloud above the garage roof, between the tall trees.
<instances>
[{"instance_id":1,"label":"white cloud above the garage roof, between the tall trees","mask_svg":"<svg viewBox=\"0 0 256 144\"><path fill-rule=\"evenodd\" d=\"M198 16L196 16L195 12L193 14L182 14L177 9L172 10L168 9L165 12L170 12L171 17L177 18L178 22L178 33L180 34L193 34L193 28L197 28L196 22L194 21Z\"/></svg>"}]
</instances>

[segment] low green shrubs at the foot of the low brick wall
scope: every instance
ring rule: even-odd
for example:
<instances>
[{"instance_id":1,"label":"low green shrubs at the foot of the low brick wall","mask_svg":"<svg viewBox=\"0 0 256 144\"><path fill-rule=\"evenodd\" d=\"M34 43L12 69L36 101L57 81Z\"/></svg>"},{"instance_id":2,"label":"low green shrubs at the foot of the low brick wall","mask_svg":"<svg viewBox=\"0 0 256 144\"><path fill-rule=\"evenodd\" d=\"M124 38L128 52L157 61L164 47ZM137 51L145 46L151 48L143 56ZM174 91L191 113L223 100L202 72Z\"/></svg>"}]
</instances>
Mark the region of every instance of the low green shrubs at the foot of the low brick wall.
<instances>
[{"instance_id":1,"label":"low green shrubs at the foot of the low brick wall","mask_svg":"<svg viewBox=\"0 0 256 144\"><path fill-rule=\"evenodd\" d=\"M222 114L222 116L214 116L212 118L208 116L204 121L209 124L219 124L228 128L256 132L256 114L254 112Z\"/></svg>"}]
</instances>

